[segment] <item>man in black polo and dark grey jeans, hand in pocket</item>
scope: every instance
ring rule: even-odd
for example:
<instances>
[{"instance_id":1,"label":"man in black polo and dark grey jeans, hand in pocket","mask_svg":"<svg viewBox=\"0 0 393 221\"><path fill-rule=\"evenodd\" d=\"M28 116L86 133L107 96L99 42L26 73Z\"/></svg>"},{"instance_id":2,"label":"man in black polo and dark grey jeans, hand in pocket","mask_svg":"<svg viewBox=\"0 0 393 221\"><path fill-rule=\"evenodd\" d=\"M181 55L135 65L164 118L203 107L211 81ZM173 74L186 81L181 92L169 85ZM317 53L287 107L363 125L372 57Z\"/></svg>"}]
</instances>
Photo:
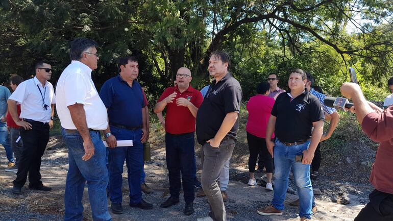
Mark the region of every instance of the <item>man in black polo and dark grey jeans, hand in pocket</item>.
<instances>
[{"instance_id":1,"label":"man in black polo and dark grey jeans, hand in pocket","mask_svg":"<svg viewBox=\"0 0 393 221\"><path fill-rule=\"evenodd\" d=\"M209 60L214 78L196 115L196 138L202 149L202 188L210 204L211 218L226 221L223 196L217 184L224 164L232 156L238 128L241 87L229 73L230 59L216 51Z\"/></svg>"}]
</instances>

